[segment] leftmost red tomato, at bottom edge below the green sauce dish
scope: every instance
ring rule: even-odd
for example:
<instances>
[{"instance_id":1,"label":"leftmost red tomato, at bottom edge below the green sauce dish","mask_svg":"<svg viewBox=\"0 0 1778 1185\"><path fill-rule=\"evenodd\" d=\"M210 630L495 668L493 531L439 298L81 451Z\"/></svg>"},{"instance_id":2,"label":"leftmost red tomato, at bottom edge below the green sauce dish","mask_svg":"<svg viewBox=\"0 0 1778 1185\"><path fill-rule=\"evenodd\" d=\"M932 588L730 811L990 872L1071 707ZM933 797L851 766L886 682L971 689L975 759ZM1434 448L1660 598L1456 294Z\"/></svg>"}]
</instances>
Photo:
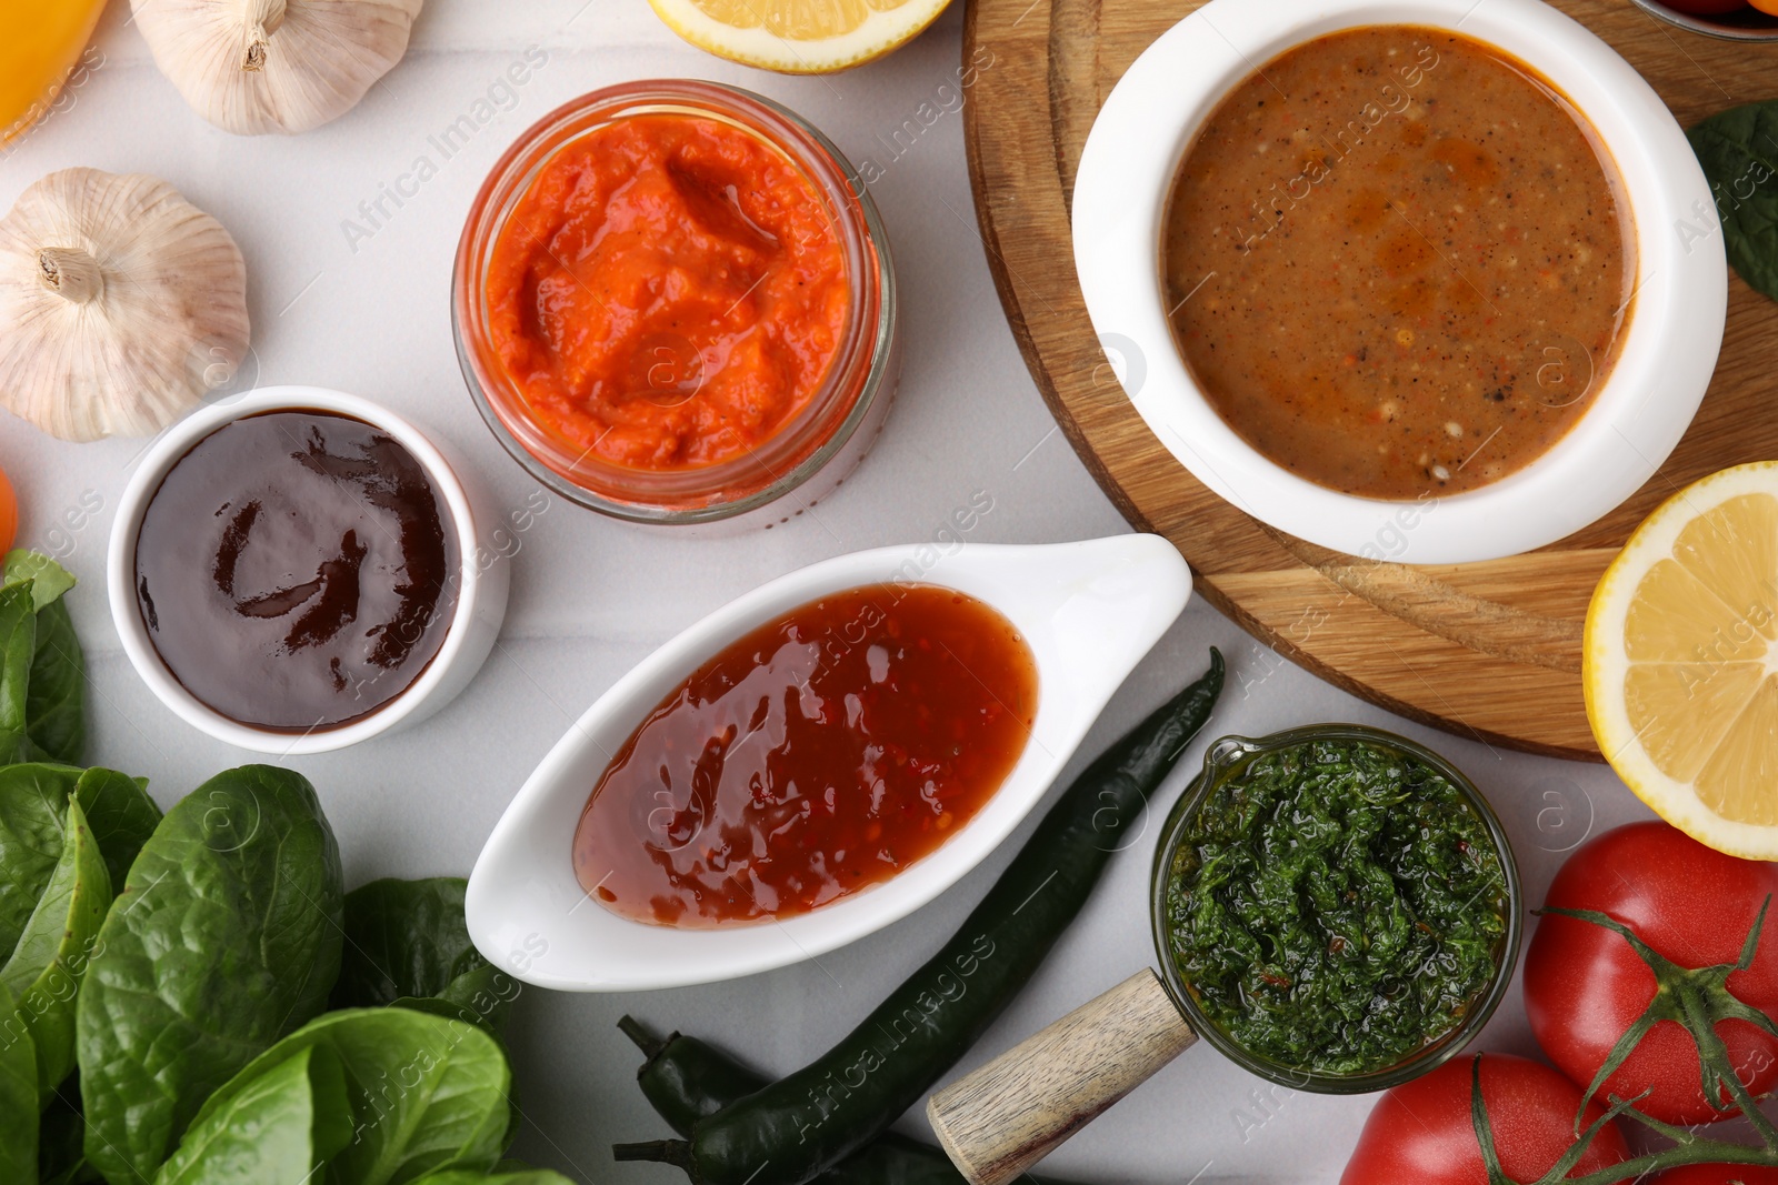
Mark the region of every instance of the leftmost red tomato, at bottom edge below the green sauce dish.
<instances>
[{"instance_id":1,"label":"leftmost red tomato, at bottom edge below the green sauce dish","mask_svg":"<svg viewBox=\"0 0 1778 1185\"><path fill-rule=\"evenodd\" d=\"M1474 1057L1458 1057L1387 1091L1358 1135L1341 1185L1486 1185L1481 1142L1469 1116L1472 1062ZM1538 1180L1574 1144L1581 1091L1549 1066L1483 1054L1481 1101L1488 1105L1501 1169L1515 1181ZM1598 1116L1600 1109L1588 1103L1586 1123ZM1568 1176L1609 1169L1629 1155L1613 1123Z\"/></svg>"}]
</instances>

